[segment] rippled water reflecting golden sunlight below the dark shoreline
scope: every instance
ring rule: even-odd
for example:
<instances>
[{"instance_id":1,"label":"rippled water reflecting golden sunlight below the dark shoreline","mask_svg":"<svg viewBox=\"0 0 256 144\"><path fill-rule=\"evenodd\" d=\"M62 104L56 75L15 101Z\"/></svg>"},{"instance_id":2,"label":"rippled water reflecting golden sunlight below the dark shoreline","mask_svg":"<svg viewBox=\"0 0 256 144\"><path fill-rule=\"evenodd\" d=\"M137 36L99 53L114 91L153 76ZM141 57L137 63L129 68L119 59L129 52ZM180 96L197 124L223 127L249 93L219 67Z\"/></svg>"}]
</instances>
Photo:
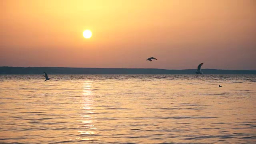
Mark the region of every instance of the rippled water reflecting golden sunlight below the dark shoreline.
<instances>
[{"instance_id":1,"label":"rippled water reflecting golden sunlight below the dark shoreline","mask_svg":"<svg viewBox=\"0 0 256 144\"><path fill-rule=\"evenodd\" d=\"M0 143L256 143L256 75L48 76L0 75Z\"/></svg>"}]
</instances>

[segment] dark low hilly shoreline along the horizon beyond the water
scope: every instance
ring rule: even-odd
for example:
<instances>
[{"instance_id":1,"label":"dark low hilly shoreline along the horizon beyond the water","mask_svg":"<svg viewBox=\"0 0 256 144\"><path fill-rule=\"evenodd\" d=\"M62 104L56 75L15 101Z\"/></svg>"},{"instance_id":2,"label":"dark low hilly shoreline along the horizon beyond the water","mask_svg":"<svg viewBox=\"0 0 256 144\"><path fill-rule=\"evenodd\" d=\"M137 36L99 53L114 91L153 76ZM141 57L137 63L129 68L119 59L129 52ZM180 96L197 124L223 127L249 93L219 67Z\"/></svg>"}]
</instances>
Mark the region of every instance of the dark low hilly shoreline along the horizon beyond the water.
<instances>
[{"instance_id":1,"label":"dark low hilly shoreline along the horizon beyond the water","mask_svg":"<svg viewBox=\"0 0 256 144\"><path fill-rule=\"evenodd\" d=\"M196 74L196 69L167 70L158 68L65 68L1 66L0 74ZM256 74L256 70L202 69L203 74Z\"/></svg>"}]
</instances>

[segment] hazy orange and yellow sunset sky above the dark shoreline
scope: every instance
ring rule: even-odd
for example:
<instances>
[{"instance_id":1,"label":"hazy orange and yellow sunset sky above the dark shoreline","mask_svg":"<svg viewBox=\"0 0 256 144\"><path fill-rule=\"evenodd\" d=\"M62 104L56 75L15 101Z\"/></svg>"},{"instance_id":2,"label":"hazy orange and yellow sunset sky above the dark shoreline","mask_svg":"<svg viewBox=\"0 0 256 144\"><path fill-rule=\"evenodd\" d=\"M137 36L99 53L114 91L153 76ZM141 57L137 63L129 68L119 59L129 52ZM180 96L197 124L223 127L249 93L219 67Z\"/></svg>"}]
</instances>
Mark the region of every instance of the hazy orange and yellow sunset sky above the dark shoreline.
<instances>
[{"instance_id":1,"label":"hazy orange and yellow sunset sky above the dark shoreline","mask_svg":"<svg viewBox=\"0 0 256 144\"><path fill-rule=\"evenodd\" d=\"M0 66L256 69L256 0L1 0L0 12Z\"/></svg>"}]
</instances>

